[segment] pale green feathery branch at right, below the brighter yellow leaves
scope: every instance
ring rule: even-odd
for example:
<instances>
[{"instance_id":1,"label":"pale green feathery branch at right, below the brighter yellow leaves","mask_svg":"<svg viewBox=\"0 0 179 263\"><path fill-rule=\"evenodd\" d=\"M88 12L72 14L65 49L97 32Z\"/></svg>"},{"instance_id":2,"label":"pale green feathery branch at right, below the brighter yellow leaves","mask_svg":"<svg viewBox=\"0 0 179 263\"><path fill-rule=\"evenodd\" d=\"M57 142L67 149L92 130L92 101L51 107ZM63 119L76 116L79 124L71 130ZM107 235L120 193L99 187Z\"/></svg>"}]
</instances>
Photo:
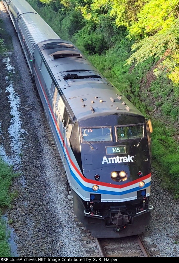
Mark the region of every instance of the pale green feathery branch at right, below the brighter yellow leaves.
<instances>
[{"instance_id":1,"label":"pale green feathery branch at right, below the brighter yellow leaves","mask_svg":"<svg viewBox=\"0 0 179 263\"><path fill-rule=\"evenodd\" d=\"M154 70L156 76L165 72L174 81L179 80L179 19L176 19L167 29L162 29L153 36L145 37L133 44L135 51L127 60L127 64L143 62L149 57L156 57L162 62Z\"/></svg>"}]
</instances>

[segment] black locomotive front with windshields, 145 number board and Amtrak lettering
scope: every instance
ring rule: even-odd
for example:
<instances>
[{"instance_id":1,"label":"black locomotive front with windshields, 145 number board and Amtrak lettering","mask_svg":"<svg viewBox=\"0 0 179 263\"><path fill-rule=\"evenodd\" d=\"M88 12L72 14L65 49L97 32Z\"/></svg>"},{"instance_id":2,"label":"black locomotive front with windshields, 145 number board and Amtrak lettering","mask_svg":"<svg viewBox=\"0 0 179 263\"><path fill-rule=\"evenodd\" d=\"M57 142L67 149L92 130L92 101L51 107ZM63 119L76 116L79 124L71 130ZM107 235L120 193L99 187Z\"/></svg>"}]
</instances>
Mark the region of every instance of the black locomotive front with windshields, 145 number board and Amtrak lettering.
<instances>
[{"instance_id":1,"label":"black locomotive front with windshields, 145 number board and Amtrak lettering","mask_svg":"<svg viewBox=\"0 0 179 263\"><path fill-rule=\"evenodd\" d=\"M102 174L105 183L121 185L121 180L112 182L110 175L113 171L124 170L126 182L138 179L138 171L149 173L150 152L143 116L98 115L79 121L78 127L81 168L87 179L92 180L95 174Z\"/></svg>"}]
</instances>

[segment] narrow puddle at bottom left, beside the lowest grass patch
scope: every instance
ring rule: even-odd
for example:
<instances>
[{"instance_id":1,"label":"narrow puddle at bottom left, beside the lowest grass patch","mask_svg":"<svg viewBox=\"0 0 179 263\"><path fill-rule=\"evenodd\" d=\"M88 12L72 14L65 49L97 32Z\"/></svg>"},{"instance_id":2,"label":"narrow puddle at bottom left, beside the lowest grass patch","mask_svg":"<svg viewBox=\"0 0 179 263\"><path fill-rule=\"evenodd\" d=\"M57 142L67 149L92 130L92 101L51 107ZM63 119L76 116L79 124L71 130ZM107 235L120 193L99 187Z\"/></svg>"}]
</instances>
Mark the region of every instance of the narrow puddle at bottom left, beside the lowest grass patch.
<instances>
[{"instance_id":1,"label":"narrow puddle at bottom left, beside the lowest grass patch","mask_svg":"<svg viewBox=\"0 0 179 263\"><path fill-rule=\"evenodd\" d=\"M7 222L8 222L7 215L3 215L2 218L4 219L4 221L7 224ZM7 224L7 235L9 235L8 243L10 245L12 256L18 257L17 245L14 241L14 239L16 238L15 229L13 227L10 227L8 224Z\"/></svg>"}]
</instances>

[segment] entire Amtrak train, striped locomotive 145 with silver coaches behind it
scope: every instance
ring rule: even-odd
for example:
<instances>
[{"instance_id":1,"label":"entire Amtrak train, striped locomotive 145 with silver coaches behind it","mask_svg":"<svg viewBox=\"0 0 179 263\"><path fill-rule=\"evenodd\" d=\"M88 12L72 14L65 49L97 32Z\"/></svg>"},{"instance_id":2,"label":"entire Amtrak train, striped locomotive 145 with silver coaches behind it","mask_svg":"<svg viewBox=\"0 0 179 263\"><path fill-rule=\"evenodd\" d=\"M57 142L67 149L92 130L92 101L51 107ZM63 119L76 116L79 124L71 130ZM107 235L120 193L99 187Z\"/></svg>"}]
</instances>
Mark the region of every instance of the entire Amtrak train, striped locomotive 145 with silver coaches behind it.
<instances>
[{"instance_id":1,"label":"entire Amtrak train, striped locomotive 145 with silver coaches behind it","mask_svg":"<svg viewBox=\"0 0 179 263\"><path fill-rule=\"evenodd\" d=\"M150 219L150 121L25 0L3 2L63 162L75 215L95 237L142 233Z\"/></svg>"}]
</instances>

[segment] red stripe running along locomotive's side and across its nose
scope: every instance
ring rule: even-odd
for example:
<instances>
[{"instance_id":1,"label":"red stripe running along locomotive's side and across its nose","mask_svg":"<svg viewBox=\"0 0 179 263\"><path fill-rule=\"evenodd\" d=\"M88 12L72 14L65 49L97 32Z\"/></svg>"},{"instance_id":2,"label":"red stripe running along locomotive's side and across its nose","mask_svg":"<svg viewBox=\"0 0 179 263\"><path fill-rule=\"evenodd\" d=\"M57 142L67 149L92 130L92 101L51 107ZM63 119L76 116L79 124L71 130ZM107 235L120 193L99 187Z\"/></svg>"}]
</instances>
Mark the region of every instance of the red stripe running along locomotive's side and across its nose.
<instances>
[{"instance_id":1,"label":"red stripe running along locomotive's side and across its nose","mask_svg":"<svg viewBox=\"0 0 179 263\"><path fill-rule=\"evenodd\" d=\"M36 75L37 75L37 77L38 77L38 74L37 74L36 69L35 69L35 72L36 72ZM43 92L44 92L45 98L46 98L46 100L47 100L48 106L49 106L49 108L50 108L50 111L51 111L51 113L52 113L53 119L54 119L54 121L55 121L56 128L57 128L58 133L59 133L59 135L60 135L60 137L61 137L61 140L62 140L63 145L64 145L64 147L65 147L65 150L66 150L66 152L67 152L67 155L68 155L68 158L69 158L69 160L70 160L70 163L72 164L72 167L75 169L75 171L78 173L78 175L81 177L81 179L83 179L84 182L86 182L86 183L91 183L91 184L97 184L97 182L96 182L95 180L90 180L90 179L85 178L85 177L81 174L81 172L77 169L77 167L76 167L75 164L73 163L72 159L70 158L70 154L69 154L69 152L68 152L68 150L67 150L67 148L66 148L66 145L65 145L64 140L63 140L63 136L61 135L60 129L59 129L59 127L58 127L58 124L57 124L57 122L56 122L56 120L55 120L55 116L54 116L54 114L53 114L53 110L52 110L52 108L51 108L51 106L50 106L49 100L48 100L48 98L47 98L47 95L46 95L46 93L45 93L45 90L44 90L44 88L43 88L43 85L42 85L39 77L38 77L38 80L39 80L39 82L40 82L40 84L41 84L41 87L42 87L42 90L43 90ZM147 174L146 176L142 176L141 178L136 179L136 180L134 180L134 181L132 181L132 182L128 182L128 183L122 184L122 185L109 184L109 183L105 183L105 182L98 182L98 185L107 186L107 187L113 187L113 188L123 188L123 187L129 186L129 185L132 185L132 184L141 182L141 181L143 181L143 180L145 180L145 179L148 179L149 177L151 177L151 173Z\"/></svg>"}]
</instances>

